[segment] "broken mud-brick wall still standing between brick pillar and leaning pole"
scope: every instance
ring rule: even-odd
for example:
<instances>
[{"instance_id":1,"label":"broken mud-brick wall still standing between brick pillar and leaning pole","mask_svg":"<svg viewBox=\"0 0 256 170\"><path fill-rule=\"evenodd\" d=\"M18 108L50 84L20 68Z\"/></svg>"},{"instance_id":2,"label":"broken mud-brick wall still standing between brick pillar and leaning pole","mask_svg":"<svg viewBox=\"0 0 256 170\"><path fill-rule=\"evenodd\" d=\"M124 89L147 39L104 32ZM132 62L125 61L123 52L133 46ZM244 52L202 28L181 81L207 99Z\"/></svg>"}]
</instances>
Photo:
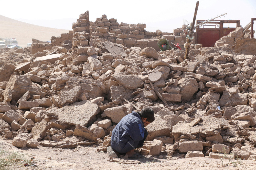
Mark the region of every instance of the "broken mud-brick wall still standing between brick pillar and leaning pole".
<instances>
[{"instance_id":1,"label":"broken mud-brick wall still standing between brick pillar and leaning pole","mask_svg":"<svg viewBox=\"0 0 256 170\"><path fill-rule=\"evenodd\" d=\"M89 14L88 14L89 15ZM90 23L90 36L93 39L104 38L112 43L122 44L125 47L131 48L133 46L146 48L153 47L157 50L157 41L160 38L166 38L169 43L179 43L180 47L184 46L186 42L186 35L182 28L177 28L174 33L162 32L148 32L145 30L146 24L126 24L116 22L116 19L107 19L106 15L97 18L95 22ZM158 48L158 51L160 49Z\"/></svg>"}]
</instances>

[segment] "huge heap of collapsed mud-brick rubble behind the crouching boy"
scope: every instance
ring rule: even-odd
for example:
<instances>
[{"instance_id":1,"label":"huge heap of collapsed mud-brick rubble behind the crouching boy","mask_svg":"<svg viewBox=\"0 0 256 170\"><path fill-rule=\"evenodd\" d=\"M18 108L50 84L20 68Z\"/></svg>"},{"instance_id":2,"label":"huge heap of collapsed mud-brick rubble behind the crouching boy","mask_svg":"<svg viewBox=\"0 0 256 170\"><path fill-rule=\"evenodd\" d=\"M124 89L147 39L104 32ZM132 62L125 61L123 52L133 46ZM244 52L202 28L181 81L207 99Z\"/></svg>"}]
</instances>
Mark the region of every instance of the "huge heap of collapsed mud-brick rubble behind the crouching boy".
<instances>
[{"instance_id":1,"label":"huge heap of collapsed mud-brick rubble behind the crouching boy","mask_svg":"<svg viewBox=\"0 0 256 170\"><path fill-rule=\"evenodd\" d=\"M113 128L135 105L155 112L139 149L145 155L255 159L256 53L239 43L255 46L255 38L241 37L237 28L223 38L234 44L193 49L186 60L184 50L116 42L120 34L140 35L141 25L105 15L89 22L87 11L73 24L72 40L67 36L60 46L34 54L1 50L1 135L21 148L100 145L106 151Z\"/></svg>"}]
</instances>

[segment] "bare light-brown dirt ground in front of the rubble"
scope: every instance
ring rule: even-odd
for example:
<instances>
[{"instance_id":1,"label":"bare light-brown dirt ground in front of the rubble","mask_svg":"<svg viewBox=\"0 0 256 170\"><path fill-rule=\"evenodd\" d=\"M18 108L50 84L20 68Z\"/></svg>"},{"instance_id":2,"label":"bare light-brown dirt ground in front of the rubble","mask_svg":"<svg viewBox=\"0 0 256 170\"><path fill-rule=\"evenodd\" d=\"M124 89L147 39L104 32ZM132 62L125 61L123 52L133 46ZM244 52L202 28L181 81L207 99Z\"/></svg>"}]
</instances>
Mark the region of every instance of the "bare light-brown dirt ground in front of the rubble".
<instances>
[{"instance_id":1,"label":"bare light-brown dirt ground in front of the rubble","mask_svg":"<svg viewBox=\"0 0 256 170\"><path fill-rule=\"evenodd\" d=\"M35 157L34 166L24 166L19 163L10 169L29 170L84 170L84 169L256 169L256 162L252 160L241 160L241 165L221 165L220 159L210 158L185 158L185 159L158 159L146 155L140 159L114 158L110 159L106 152L97 152L99 146L81 146L72 149L47 148L38 146L36 149L16 148L12 146L12 140L0 138L2 149L8 151L20 151L28 155L28 158ZM228 163L224 160L223 164Z\"/></svg>"}]
</instances>

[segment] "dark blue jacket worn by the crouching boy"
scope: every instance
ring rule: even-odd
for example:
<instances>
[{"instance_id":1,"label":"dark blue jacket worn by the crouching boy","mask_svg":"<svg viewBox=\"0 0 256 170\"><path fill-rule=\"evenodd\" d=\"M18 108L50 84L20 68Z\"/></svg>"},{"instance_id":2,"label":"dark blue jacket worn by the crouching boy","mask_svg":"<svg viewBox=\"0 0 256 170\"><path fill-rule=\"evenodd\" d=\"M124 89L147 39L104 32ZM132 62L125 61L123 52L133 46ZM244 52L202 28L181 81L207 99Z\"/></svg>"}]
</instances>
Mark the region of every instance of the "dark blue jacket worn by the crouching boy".
<instances>
[{"instance_id":1,"label":"dark blue jacket worn by the crouching boy","mask_svg":"<svg viewBox=\"0 0 256 170\"><path fill-rule=\"evenodd\" d=\"M139 141L144 138L144 127L137 112L133 111L127 114L112 131L111 147L119 153L135 149Z\"/></svg>"}]
</instances>

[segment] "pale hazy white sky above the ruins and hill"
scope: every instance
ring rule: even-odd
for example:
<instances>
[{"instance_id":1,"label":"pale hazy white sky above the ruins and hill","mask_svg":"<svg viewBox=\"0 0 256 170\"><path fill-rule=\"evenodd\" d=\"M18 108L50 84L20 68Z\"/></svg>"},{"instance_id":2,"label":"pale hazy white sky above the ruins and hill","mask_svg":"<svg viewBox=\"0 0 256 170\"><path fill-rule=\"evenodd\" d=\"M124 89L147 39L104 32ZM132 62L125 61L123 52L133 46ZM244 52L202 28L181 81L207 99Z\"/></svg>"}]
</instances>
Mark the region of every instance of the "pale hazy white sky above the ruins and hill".
<instances>
[{"instance_id":1,"label":"pale hazy white sky above the ruins and hill","mask_svg":"<svg viewBox=\"0 0 256 170\"><path fill-rule=\"evenodd\" d=\"M192 22L197 0L169 1L88 1L88 0L0 0L0 15L45 27L71 30L79 15L89 10L90 21L103 14L117 22L145 23L146 31L173 32L183 25L183 19ZM228 13L216 20L241 20L245 27L256 18L256 0L200 0L197 20L207 20ZM254 21L256 30L256 21Z\"/></svg>"}]
</instances>

